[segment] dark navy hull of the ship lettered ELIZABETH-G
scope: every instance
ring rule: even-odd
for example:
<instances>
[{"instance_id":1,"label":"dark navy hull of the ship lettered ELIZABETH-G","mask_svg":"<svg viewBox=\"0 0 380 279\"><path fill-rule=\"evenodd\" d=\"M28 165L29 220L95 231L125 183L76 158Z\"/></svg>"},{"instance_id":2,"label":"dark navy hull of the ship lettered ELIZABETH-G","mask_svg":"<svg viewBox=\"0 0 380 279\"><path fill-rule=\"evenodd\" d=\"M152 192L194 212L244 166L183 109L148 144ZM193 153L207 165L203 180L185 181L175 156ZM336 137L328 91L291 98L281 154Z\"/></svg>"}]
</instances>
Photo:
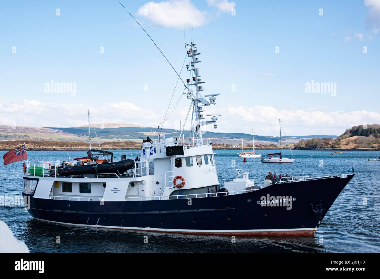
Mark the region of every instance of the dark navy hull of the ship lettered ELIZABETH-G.
<instances>
[{"instance_id":1,"label":"dark navy hull of the ship lettered ELIZABETH-G","mask_svg":"<svg viewBox=\"0 0 380 279\"><path fill-rule=\"evenodd\" d=\"M313 235L339 193L352 179L274 184L228 196L161 201L61 201L31 197L35 218L116 229L224 235ZM291 209L262 206L262 197L286 196Z\"/></svg>"}]
</instances>

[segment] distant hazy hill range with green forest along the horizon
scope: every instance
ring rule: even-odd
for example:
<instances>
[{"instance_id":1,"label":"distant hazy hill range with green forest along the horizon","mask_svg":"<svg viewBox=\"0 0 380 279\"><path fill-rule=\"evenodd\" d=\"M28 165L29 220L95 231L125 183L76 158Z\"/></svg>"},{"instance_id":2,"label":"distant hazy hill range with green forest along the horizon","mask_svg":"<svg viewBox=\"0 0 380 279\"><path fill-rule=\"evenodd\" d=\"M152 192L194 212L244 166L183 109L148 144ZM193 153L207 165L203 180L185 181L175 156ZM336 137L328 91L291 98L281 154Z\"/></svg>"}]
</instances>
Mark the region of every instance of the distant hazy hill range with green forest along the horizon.
<instances>
[{"instance_id":1,"label":"distant hazy hill range with green forest along the horizon","mask_svg":"<svg viewBox=\"0 0 380 279\"><path fill-rule=\"evenodd\" d=\"M100 143L110 141L135 141L141 142L146 136L152 139L158 138L157 128L140 127L133 124L95 124L95 131ZM94 128L91 127L91 135L95 137ZM189 135L189 131L184 132L185 136ZM81 127L12 127L0 125L0 140L37 140L37 141L88 141L88 126ZM161 138L179 137L179 131L174 129L163 129L160 134ZM221 132L205 132L204 138L212 139L215 144L225 144L230 146L241 145L243 139L244 145L252 144L252 135L246 133L221 133ZM325 135L310 136L288 136L290 144L298 143L302 139L325 138ZM336 136L332 136L336 138ZM279 144L278 136L256 136L258 142L256 144ZM255 139L256 141L256 139ZM284 141L286 143L286 141Z\"/></svg>"}]
</instances>

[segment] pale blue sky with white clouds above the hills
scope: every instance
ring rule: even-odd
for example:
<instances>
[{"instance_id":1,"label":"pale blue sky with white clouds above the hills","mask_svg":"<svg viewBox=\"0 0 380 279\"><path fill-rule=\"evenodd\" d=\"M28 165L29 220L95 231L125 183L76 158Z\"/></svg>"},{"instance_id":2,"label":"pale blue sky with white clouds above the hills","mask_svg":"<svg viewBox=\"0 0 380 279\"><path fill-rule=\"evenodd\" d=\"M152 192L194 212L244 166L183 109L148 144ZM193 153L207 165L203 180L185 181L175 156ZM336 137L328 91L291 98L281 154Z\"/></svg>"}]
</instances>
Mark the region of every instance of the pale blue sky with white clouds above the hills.
<instances>
[{"instance_id":1,"label":"pale blue sky with white clouds above the hills","mask_svg":"<svg viewBox=\"0 0 380 279\"><path fill-rule=\"evenodd\" d=\"M197 43L204 94L221 94L206 112L222 114L218 129L205 130L276 136L282 119L288 135L340 135L380 124L380 0L120 2L177 72L184 41ZM93 123L158 127L176 82L117 1L0 2L2 125L81 126L90 108ZM185 119L183 88L165 128Z\"/></svg>"}]
</instances>

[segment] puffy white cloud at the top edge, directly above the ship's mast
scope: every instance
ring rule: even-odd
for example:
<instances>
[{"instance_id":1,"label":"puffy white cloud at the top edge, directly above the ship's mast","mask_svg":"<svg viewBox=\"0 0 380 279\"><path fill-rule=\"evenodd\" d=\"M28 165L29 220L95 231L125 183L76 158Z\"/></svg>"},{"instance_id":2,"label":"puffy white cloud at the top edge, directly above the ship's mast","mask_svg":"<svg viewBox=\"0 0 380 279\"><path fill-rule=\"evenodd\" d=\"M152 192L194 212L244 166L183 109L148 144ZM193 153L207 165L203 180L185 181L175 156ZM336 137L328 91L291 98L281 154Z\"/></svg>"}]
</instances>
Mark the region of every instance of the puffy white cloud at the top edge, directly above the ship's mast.
<instances>
[{"instance_id":1,"label":"puffy white cloud at the top edge, directly above the ship's mast","mask_svg":"<svg viewBox=\"0 0 380 279\"><path fill-rule=\"evenodd\" d=\"M158 26L180 30L184 24L185 28L193 28L207 23L206 12L199 11L190 0L148 2L139 8L137 14Z\"/></svg>"}]
</instances>

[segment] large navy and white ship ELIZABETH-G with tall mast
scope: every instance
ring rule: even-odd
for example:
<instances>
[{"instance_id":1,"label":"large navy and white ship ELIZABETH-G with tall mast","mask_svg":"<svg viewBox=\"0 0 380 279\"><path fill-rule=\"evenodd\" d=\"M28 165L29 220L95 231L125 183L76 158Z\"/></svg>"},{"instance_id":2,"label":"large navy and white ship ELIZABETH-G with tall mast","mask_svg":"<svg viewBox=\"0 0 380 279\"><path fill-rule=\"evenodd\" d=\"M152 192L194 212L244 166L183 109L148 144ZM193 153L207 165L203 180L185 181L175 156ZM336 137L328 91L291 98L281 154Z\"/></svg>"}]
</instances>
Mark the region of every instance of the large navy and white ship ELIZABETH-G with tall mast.
<instances>
[{"instance_id":1,"label":"large navy and white ship ELIZABETH-G with tall mast","mask_svg":"<svg viewBox=\"0 0 380 279\"><path fill-rule=\"evenodd\" d=\"M179 138L161 137L160 134L155 139L147 137L138 157L127 161L133 160L133 166L128 163L125 169L113 173L94 173L92 169L84 173L87 172L85 168L80 171L83 174L77 172L72 176L57 172L62 164L68 168L70 163L72 166L81 160L89 160L85 166L95 166L95 170L112 164L108 161L97 164L101 158L94 157L92 149L87 152L88 159L26 161L22 194L33 218L69 226L161 233L315 234L329 208L355 174L285 174L273 181L267 179L263 185L250 179L249 172L236 169L234 179L220 183L212 142L202 134L205 125L214 125L217 129L217 116L220 115L207 114L211 120L204 121L203 112L216 105L215 96L220 93L204 94L198 48L193 42L185 47L191 61L191 66L187 67L192 81L181 81L190 101L187 115L192 119L190 131L184 130L184 123ZM192 87L195 88L193 92ZM126 158L127 155L122 155L120 161ZM28 170L35 166L49 173L31 174ZM109 171L114 170L109 168ZM221 171L228 172L230 168Z\"/></svg>"}]
</instances>

